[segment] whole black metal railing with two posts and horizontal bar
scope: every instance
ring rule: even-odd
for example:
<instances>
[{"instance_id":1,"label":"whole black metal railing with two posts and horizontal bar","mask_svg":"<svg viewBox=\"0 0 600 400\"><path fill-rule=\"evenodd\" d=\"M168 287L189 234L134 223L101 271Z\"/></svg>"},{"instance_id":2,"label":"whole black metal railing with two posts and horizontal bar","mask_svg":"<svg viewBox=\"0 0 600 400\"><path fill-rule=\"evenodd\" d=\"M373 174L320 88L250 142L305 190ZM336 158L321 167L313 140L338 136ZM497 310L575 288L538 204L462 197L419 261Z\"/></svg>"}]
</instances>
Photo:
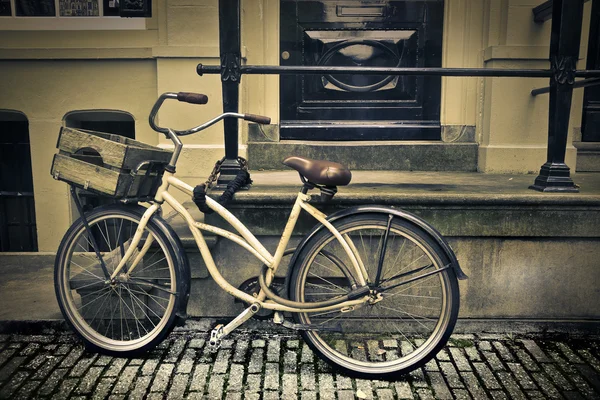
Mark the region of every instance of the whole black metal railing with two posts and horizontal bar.
<instances>
[{"instance_id":1,"label":"whole black metal railing with two posts and horizontal bar","mask_svg":"<svg viewBox=\"0 0 600 400\"><path fill-rule=\"evenodd\" d=\"M452 77L520 77L549 78L548 87L534 89L533 96L549 93L548 153L531 189L544 192L578 192L565 164L571 99L574 88L600 83L600 70L577 70L584 0L553 0L550 69L500 68L399 68L399 67L336 67L336 66L276 66L241 65L240 0L219 1L219 32L221 63L219 66L197 66L197 73L220 74L223 87L223 111L237 112L239 83L242 75L408 75ZM587 78L575 82L575 78ZM225 126L224 166L228 170L218 183L224 185L235 176L238 147L237 124ZM221 174L222 176L224 173Z\"/></svg>"}]
</instances>

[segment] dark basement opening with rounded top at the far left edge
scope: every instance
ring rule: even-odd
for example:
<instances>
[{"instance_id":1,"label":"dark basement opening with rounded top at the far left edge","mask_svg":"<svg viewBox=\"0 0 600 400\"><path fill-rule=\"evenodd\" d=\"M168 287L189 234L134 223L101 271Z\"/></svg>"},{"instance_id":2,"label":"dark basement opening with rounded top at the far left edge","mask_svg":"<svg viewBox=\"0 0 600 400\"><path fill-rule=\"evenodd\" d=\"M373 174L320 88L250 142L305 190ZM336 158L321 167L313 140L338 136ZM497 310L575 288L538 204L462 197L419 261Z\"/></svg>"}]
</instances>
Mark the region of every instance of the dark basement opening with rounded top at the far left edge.
<instances>
[{"instance_id":1,"label":"dark basement opening with rounded top at the far left edge","mask_svg":"<svg viewBox=\"0 0 600 400\"><path fill-rule=\"evenodd\" d=\"M37 251L27 121L0 121L0 251Z\"/></svg>"}]
</instances>

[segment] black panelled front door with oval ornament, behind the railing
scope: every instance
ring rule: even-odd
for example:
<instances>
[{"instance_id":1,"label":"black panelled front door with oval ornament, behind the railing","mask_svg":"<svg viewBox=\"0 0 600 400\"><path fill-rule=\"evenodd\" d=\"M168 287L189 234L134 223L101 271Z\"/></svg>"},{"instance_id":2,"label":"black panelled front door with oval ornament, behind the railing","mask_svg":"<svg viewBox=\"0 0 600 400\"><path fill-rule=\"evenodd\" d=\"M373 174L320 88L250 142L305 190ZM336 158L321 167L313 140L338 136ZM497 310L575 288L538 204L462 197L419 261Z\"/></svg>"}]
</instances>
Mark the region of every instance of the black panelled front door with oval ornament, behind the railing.
<instances>
[{"instance_id":1,"label":"black panelled front door with oval ornament, behind the railing","mask_svg":"<svg viewBox=\"0 0 600 400\"><path fill-rule=\"evenodd\" d=\"M443 1L283 0L281 65L440 67ZM439 77L280 78L281 138L440 139Z\"/></svg>"}]
</instances>

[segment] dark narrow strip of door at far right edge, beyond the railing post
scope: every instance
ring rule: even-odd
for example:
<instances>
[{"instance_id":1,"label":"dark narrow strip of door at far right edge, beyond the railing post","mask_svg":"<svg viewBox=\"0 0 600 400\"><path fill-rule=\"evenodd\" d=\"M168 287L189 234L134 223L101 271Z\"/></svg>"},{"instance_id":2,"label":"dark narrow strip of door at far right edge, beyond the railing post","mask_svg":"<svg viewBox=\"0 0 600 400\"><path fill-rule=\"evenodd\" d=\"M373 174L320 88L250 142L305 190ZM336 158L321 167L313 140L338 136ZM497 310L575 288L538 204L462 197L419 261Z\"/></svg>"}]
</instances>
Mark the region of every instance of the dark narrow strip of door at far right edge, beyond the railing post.
<instances>
[{"instance_id":1,"label":"dark narrow strip of door at far right edge, beyond the railing post","mask_svg":"<svg viewBox=\"0 0 600 400\"><path fill-rule=\"evenodd\" d=\"M592 5L586 68L600 69L600 0ZM600 85L585 88L581 130L584 142L600 142Z\"/></svg>"}]
</instances>

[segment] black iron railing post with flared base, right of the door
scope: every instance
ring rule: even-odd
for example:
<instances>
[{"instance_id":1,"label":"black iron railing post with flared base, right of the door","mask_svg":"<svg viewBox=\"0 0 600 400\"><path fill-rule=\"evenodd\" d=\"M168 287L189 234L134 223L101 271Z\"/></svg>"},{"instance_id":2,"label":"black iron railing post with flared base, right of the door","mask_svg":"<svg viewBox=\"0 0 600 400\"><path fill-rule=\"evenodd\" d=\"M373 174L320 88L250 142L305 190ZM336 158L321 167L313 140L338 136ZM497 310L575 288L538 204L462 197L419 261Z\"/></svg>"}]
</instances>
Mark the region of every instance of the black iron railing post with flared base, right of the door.
<instances>
[{"instance_id":1,"label":"black iron railing post with flared base, right of the door","mask_svg":"<svg viewBox=\"0 0 600 400\"><path fill-rule=\"evenodd\" d=\"M583 0L554 0L550 37L548 155L529 188L541 192L578 192L565 164L575 69L579 57Z\"/></svg>"}]
</instances>

